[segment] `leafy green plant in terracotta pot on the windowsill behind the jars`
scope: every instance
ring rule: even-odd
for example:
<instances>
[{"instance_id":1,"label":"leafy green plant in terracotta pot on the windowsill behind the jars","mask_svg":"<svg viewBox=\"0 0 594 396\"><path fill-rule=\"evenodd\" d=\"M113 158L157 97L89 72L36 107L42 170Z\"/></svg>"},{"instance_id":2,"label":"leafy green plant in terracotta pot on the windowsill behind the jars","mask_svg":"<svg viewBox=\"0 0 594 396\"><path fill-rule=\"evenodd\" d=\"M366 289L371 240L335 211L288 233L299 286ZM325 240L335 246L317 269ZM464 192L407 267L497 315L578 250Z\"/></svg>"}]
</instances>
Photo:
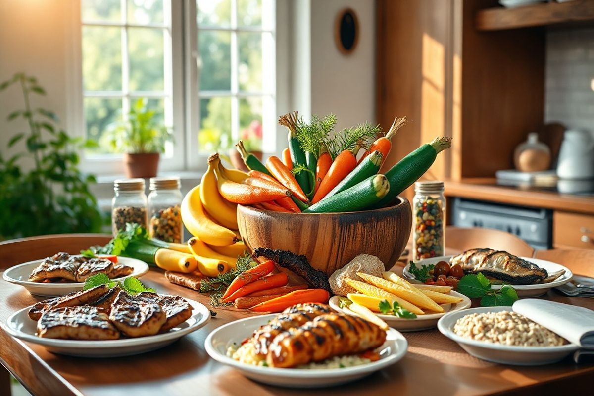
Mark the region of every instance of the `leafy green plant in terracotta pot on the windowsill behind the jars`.
<instances>
[{"instance_id":1,"label":"leafy green plant in terracotta pot on the windowsill behind the jars","mask_svg":"<svg viewBox=\"0 0 594 396\"><path fill-rule=\"evenodd\" d=\"M171 128L154 121L154 110L147 108L147 99L138 99L128 112L128 120L121 121L108 132L109 143L115 152L124 152L128 178L157 176L159 156L165 143L173 139Z\"/></svg>"}]
</instances>

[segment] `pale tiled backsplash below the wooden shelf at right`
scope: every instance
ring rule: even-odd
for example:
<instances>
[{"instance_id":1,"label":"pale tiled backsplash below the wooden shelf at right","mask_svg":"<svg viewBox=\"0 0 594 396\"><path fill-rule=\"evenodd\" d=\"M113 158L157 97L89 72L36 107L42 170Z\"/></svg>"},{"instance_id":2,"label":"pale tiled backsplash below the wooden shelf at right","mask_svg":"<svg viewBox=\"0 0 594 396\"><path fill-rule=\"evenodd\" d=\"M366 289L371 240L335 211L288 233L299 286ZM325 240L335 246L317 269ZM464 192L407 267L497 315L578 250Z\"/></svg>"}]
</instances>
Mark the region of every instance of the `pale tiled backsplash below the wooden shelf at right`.
<instances>
[{"instance_id":1,"label":"pale tiled backsplash below the wooden shelf at right","mask_svg":"<svg viewBox=\"0 0 594 396\"><path fill-rule=\"evenodd\" d=\"M594 131L594 28L547 33L545 121Z\"/></svg>"}]
</instances>

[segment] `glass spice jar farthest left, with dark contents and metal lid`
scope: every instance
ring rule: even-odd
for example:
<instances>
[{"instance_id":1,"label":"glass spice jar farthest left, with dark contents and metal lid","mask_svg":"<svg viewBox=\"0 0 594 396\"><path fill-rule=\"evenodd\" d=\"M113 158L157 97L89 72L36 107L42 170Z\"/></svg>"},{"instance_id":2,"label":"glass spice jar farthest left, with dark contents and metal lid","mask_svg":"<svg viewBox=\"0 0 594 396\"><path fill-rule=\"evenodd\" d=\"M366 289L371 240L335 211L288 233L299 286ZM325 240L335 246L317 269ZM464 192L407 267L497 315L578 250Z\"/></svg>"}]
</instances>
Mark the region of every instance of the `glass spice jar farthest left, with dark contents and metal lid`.
<instances>
[{"instance_id":1,"label":"glass spice jar farthest left, with dark contents and metal lid","mask_svg":"<svg viewBox=\"0 0 594 396\"><path fill-rule=\"evenodd\" d=\"M144 179L118 179L113 182L112 232L126 229L126 223L147 227L147 196Z\"/></svg>"}]
</instances>

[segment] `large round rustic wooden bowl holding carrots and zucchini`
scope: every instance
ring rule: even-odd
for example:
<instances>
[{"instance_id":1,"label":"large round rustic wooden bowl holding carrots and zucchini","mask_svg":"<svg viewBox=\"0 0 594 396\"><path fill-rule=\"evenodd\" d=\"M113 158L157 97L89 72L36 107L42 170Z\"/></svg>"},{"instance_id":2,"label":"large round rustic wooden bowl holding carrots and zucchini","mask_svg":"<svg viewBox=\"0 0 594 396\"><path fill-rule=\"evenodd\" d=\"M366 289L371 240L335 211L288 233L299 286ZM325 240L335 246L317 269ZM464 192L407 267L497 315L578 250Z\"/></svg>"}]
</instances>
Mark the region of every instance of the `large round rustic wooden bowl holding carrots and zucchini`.
<instances>
[{"instance_id":1,"label":"large round rustic wooden bowl holding carrots and zucchini","mask_svg":"<svg viewBox=\"0 0 594 396\"><path fill-rule=\"evenodd\" d=\"M402 255L412 228L409 202L388 208L345 213L279 213L238 205L237 221L245 244L305 255L330 276L365 253L378 256L389 270Z\"/></svg>"}]
</instances>

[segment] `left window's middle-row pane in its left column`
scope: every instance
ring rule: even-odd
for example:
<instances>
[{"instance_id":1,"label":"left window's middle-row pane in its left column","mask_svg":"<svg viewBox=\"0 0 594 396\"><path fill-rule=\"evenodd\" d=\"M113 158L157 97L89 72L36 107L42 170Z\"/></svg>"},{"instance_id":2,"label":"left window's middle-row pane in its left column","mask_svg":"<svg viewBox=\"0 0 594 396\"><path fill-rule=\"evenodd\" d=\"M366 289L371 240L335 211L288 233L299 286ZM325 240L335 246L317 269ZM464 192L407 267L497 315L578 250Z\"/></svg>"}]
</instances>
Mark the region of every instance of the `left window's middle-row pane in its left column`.
<instances>
[{"instance_id":1,"label":"left window's middle-row pane in its left column","mask_svg":"<svg viewBox=\"0 0 594 396\"><path fill-rule=\"evenodd\" d=\"M83 26L82 40L84 90L121 90L121 29Z\"/></svg>"}]
</instances>

